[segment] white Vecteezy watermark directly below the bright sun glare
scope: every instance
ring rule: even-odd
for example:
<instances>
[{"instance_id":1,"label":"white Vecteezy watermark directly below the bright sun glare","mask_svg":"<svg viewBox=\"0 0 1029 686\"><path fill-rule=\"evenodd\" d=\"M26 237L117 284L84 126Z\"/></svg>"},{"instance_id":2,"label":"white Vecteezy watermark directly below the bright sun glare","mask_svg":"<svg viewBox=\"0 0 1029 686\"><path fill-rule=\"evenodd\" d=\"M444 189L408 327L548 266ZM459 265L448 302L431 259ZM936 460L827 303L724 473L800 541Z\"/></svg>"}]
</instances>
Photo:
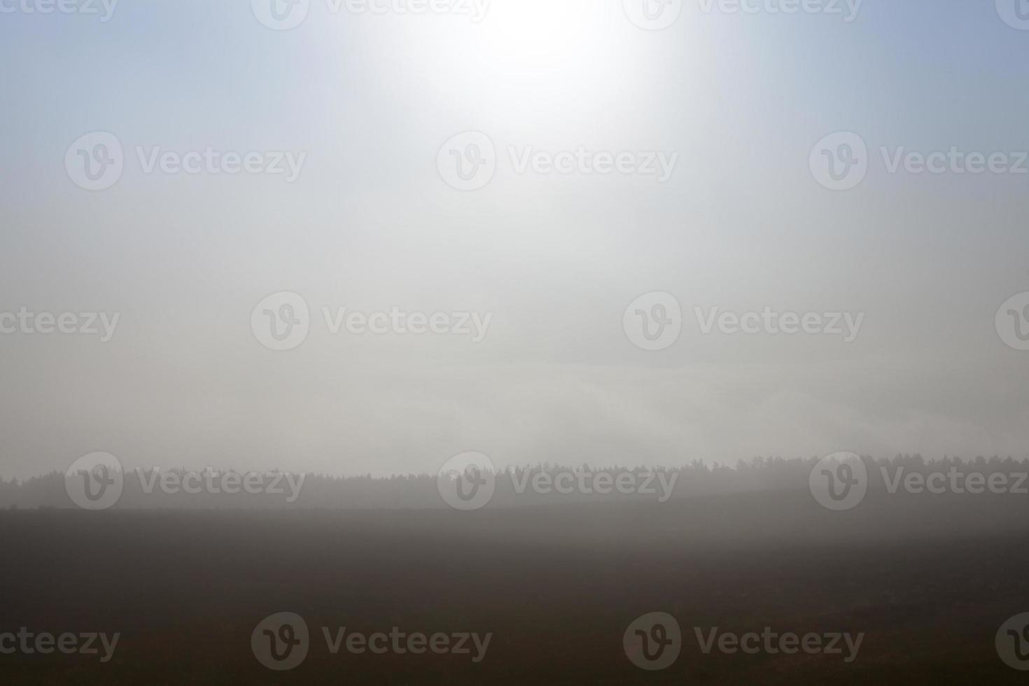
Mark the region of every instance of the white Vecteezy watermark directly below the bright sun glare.
<instances>
[{"instance_id":1,"label":"white Vecteezy watermark directly below the bright sun glare","mask_svg":"<svg viewBox=\"0 0 1029 686\"><path fill-rule=\"evenodd\" d=\"M512 171L549 176L554 174L580 176L619 174L652 176L665 183L675 173L678 152L607 151L578 146L574 150L537 150L532 146L508 146L507 155ZM458 190L477 190L488 184L497 169L496 147L489 136L469 131L447 140L436 154L439 177Z\"/></svg>"}]
</instances>

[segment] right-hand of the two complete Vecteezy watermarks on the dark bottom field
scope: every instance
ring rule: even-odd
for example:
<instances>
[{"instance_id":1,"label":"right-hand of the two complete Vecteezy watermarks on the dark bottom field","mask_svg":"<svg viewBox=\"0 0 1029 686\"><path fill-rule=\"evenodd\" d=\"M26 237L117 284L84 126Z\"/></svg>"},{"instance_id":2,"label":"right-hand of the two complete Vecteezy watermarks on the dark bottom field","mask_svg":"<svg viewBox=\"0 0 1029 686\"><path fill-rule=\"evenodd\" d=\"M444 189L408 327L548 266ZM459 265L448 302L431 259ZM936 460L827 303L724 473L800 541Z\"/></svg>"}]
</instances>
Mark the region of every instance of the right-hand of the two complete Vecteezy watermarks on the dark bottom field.
<instances>
[{"instance_id":1,"label":"right-hand of the two complete Vecteezy watermarks on the dark bottom field","mask_svg":"<svg viewBox=\"0 0 1029 686\"><path fill-rule=\"evenodd\" d=\"M717 626L694 626L693 629L697 645L705 655L714 650L729 655L741 652L747 655L794 655L804 652L809 655L840 655L849 664L857 659L864 641L863 633L856 636L814 631L780 634L771 626L764 627L760 633L745 634L720 631ZM629 660L641 670L666 670L679 657L682 630L672 615L650 612L633 620L623 635L622 645Z\"/></svg>"}]
</instances>

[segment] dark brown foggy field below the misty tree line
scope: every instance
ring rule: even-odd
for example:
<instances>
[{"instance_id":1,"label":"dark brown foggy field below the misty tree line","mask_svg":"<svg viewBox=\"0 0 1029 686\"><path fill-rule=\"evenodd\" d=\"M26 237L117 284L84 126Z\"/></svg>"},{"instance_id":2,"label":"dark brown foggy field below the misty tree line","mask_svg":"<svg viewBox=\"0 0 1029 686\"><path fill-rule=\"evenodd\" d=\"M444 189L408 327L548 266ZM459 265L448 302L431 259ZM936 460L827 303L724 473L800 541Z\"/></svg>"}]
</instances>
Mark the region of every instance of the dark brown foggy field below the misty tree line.
<instances>
[{"instance_id":1,"label":"dark brown foggy field below the misty tree line","mask_svg":"<svg viewBox=\"0 0 1029 686\"><path fill-rule=\"evenodd\" d=\"M480 512L0 512L0 633L119 633L107 663L0 655L10 684L1024 683L994 636L1029 611L1018 496L878 496L829 512L801 492ZM289 672L254 627L311 630ZM682 652L634 666L623 633L667 612ZM485 657L330 654L334 633L492 633ZM863 633L827 654L701 651L707 634Z\"/></svg>"}]
</instances>

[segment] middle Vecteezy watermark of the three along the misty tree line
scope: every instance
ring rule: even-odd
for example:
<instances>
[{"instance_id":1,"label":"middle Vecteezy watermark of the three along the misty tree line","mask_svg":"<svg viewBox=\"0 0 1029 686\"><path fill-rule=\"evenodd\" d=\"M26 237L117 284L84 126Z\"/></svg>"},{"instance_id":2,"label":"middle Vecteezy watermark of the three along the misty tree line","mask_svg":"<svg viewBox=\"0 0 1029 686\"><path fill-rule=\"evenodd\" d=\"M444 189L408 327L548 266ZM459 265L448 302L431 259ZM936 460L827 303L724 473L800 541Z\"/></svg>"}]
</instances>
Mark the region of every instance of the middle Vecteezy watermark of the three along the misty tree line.
<instances>
[{"instance_id":1,"label":"middle Vecteezy watermark of the three along the misty tree line","mask_svg":"<svg viewBox=\"0 0 1029 686\"><path fill-rule=\"evenodd\" d=\"M586 469L504 469L497 471L493 462L482 453L462 453L448 460L436 473L436 489L448 505L457 510L477 510L486 507L496 492L498 480L510 479L509 493L522 496L527 492L539 496L653 496L659 503L668 502L675 491L678 472L637 470Z\"/></svg>"}]
</instances>

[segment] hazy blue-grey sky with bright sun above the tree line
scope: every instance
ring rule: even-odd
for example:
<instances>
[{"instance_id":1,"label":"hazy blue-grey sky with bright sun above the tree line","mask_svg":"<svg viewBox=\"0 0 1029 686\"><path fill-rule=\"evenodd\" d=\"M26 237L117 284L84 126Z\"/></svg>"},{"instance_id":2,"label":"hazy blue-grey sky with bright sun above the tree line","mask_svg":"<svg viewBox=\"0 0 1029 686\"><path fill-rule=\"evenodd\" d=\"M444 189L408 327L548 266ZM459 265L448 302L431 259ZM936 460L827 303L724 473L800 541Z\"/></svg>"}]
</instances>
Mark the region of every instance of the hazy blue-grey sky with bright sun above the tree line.
<instances>
[{"instance_id":1,"label":"hazy blue-grey sky with bright sun above the tree line","mask_svg":"<svg viewBox=\"0 0 1029 686\"><path fill-rule=\"evenodd\" d=\"M492 0L480 22L311 0L278 31L246 0L121 0L107 22L33 1L0 0L0 313L120 317L107 342L0 334L2 476L94 450L375 474L466 450L1029 456L1029 352L994 321L1029 291L1029 174L889 173L881 153L1029 150L1029 31L993 2L865 0L847 22L843 2L691 0L648 31L622 0ZM123 146L104 190L66 169L91 132ZM475 190L437 166L462 132L495 145ZM837 132L867 146L849 190L809 169ZM580 146L677 157L660 182L519 173L508 151ZM292 182L147 173L155 147L306 157ZM251 329L280 291L311 311L285 352ZM623 328L652 291L682 309L662 351ZM323 306L492 319L480 342L333 334ZM864 317L845 342L705 334L695 308Z\"/></svg>"}]
</instances>

